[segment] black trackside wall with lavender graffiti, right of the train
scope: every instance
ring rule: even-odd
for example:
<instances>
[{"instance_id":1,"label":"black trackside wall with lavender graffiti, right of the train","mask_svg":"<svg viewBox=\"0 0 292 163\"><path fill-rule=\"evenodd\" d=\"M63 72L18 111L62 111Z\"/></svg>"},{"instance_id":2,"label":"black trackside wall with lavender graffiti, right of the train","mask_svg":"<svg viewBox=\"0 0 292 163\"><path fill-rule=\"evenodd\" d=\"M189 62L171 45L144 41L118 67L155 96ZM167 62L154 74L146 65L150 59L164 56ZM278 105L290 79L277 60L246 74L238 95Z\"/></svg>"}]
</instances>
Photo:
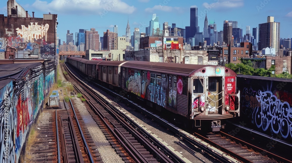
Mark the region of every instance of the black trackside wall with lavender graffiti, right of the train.
<instances>
[{"instance_id":1,"label":"black trackside wall with lavender graffiti, right of the train","mask_svg":"<svg viewBox=\"0 0 292 163\"><path fill-rule=\"evenodd\" d=\"M292 80L237 77L241 118L278 139L292 138Z\"/></svg>"}]
</instances>

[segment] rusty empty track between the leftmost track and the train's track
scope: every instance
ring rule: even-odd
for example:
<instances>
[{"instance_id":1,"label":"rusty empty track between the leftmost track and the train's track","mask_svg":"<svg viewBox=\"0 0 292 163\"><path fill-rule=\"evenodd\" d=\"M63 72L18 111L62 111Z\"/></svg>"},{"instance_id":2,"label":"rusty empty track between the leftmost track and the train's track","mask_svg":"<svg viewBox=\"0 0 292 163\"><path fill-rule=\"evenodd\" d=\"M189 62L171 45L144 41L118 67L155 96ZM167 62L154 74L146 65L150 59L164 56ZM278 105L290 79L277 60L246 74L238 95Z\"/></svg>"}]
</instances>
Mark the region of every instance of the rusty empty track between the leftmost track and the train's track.
<instances>
[{"instance_id":1,"label":"rusty empty track between the leftmost track and the train's track","mask_svg":"<svg viewBox=\"0 0 292 163\"><path fill-rule=\"evenodd\" d=\"M86 98L89 113L124 161L173 162L169 156L154 146L152 141L146 139L145 135L141 134L135 127L132 127L128 121L125 121L125 117L118 114L114 106L111 106L95 91L82 86L81 83L74 83L72 79L69 81ZM82 89L79 86L82 86Z\"/></svg>"}]
</instances>

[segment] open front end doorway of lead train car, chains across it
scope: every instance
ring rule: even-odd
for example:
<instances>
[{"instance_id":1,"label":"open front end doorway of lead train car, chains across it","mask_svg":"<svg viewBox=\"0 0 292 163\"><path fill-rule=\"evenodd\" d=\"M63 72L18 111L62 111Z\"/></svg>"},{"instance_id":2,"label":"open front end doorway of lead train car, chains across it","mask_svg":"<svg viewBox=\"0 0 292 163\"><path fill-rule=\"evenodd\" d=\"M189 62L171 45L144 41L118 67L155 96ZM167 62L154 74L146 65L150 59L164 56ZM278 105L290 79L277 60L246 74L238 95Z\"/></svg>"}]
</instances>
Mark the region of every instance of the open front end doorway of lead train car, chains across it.
<instances>
[{"instance_id":1,"label":"open front end doorway of lead train car, chains across it","mask_svg":"<svg viewBox=\"0 0 292 163\"><path fill-rule=\"evenodd\" d=\"M222 77L208 77L208 114L222 110Z\"/></svg>"}]
</instances>

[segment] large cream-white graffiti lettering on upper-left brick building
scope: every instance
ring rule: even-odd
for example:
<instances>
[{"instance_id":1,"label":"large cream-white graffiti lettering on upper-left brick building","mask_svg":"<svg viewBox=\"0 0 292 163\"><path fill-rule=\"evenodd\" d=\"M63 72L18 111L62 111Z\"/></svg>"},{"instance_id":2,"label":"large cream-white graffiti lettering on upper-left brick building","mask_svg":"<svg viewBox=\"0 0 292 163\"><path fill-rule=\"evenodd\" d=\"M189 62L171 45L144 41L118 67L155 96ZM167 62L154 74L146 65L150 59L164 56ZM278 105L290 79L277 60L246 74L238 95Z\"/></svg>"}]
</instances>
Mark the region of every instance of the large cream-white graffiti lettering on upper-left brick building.
<instances>
[{"instance_id":1,"label":"large cream-white graffiti lettering on upper-left brick building","mask_svg":"<svg viewBox=\"0 0 292 163\"><path fill-rule=\"evenodd\" d=\"M39 25L36 23L30 23L31 25L28 25L26 27L25 25L21 25L21 29L17 28L16 32L18 36L23 38L24 42L34 42L35 40L41 39L44 36L46 37L45 40L47 41L47 32L49 29L49 24L46 25Z\"/></svg>"}]
</instances>

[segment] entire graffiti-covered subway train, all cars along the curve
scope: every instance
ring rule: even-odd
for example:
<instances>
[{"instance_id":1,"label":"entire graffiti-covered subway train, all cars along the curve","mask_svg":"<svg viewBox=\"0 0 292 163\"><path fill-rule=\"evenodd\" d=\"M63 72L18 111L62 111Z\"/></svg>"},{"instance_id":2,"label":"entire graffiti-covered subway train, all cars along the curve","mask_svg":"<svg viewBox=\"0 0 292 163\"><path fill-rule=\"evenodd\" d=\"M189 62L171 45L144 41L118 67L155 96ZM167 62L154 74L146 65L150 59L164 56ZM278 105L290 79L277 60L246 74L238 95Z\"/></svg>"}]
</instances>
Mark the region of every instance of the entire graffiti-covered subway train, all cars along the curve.
<instances>
[{"instance_id":1,"label":"entire graffiti-covered subway train, all cars along the curve","mask_svg":"<svg viewBox=\"0 0 292 163\"><path fill-rule=\"evenodd\" d=\"M240 114L237 75L224 66L77 57L68 57L67 63L149 107L172 112L173 119L197 129L207 126L220 131L222 120Z\"/></svg>"}]
</instances>

